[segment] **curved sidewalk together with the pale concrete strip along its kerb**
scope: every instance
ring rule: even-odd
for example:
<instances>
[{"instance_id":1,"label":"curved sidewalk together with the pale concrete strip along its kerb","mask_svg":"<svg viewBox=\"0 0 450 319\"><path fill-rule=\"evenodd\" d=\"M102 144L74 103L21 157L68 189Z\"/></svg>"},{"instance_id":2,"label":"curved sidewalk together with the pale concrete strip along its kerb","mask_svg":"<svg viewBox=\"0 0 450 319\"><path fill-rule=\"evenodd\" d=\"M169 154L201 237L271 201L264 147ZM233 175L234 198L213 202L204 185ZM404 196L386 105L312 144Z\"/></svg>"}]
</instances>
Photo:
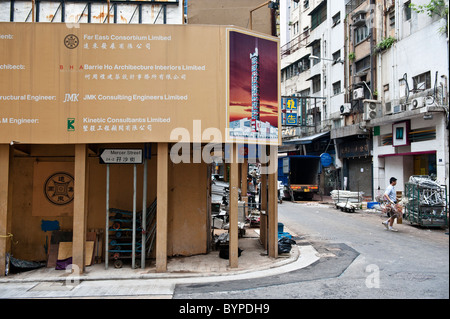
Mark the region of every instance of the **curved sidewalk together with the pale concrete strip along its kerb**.
<instances>
[{"instance_id":1,"label":"curved sidewalk together with the pale concrete strip along its kerb","mask_svg":"<svg viewBox=\"0 0 450 319\"><path fill-rule=\"evenodd\" d=\"M320 259L314 247L293 245L289 254L269 258L259 237L239 239L243 249L239 267L218 251L206 255L168 259L165 273L155 271L154 262L145 269L120 269L105 264L86 267L83 274L40 268L0 278L0 299L171 299L177 285L268 278L307 267Z\"/></svg>"}]
</instances>

